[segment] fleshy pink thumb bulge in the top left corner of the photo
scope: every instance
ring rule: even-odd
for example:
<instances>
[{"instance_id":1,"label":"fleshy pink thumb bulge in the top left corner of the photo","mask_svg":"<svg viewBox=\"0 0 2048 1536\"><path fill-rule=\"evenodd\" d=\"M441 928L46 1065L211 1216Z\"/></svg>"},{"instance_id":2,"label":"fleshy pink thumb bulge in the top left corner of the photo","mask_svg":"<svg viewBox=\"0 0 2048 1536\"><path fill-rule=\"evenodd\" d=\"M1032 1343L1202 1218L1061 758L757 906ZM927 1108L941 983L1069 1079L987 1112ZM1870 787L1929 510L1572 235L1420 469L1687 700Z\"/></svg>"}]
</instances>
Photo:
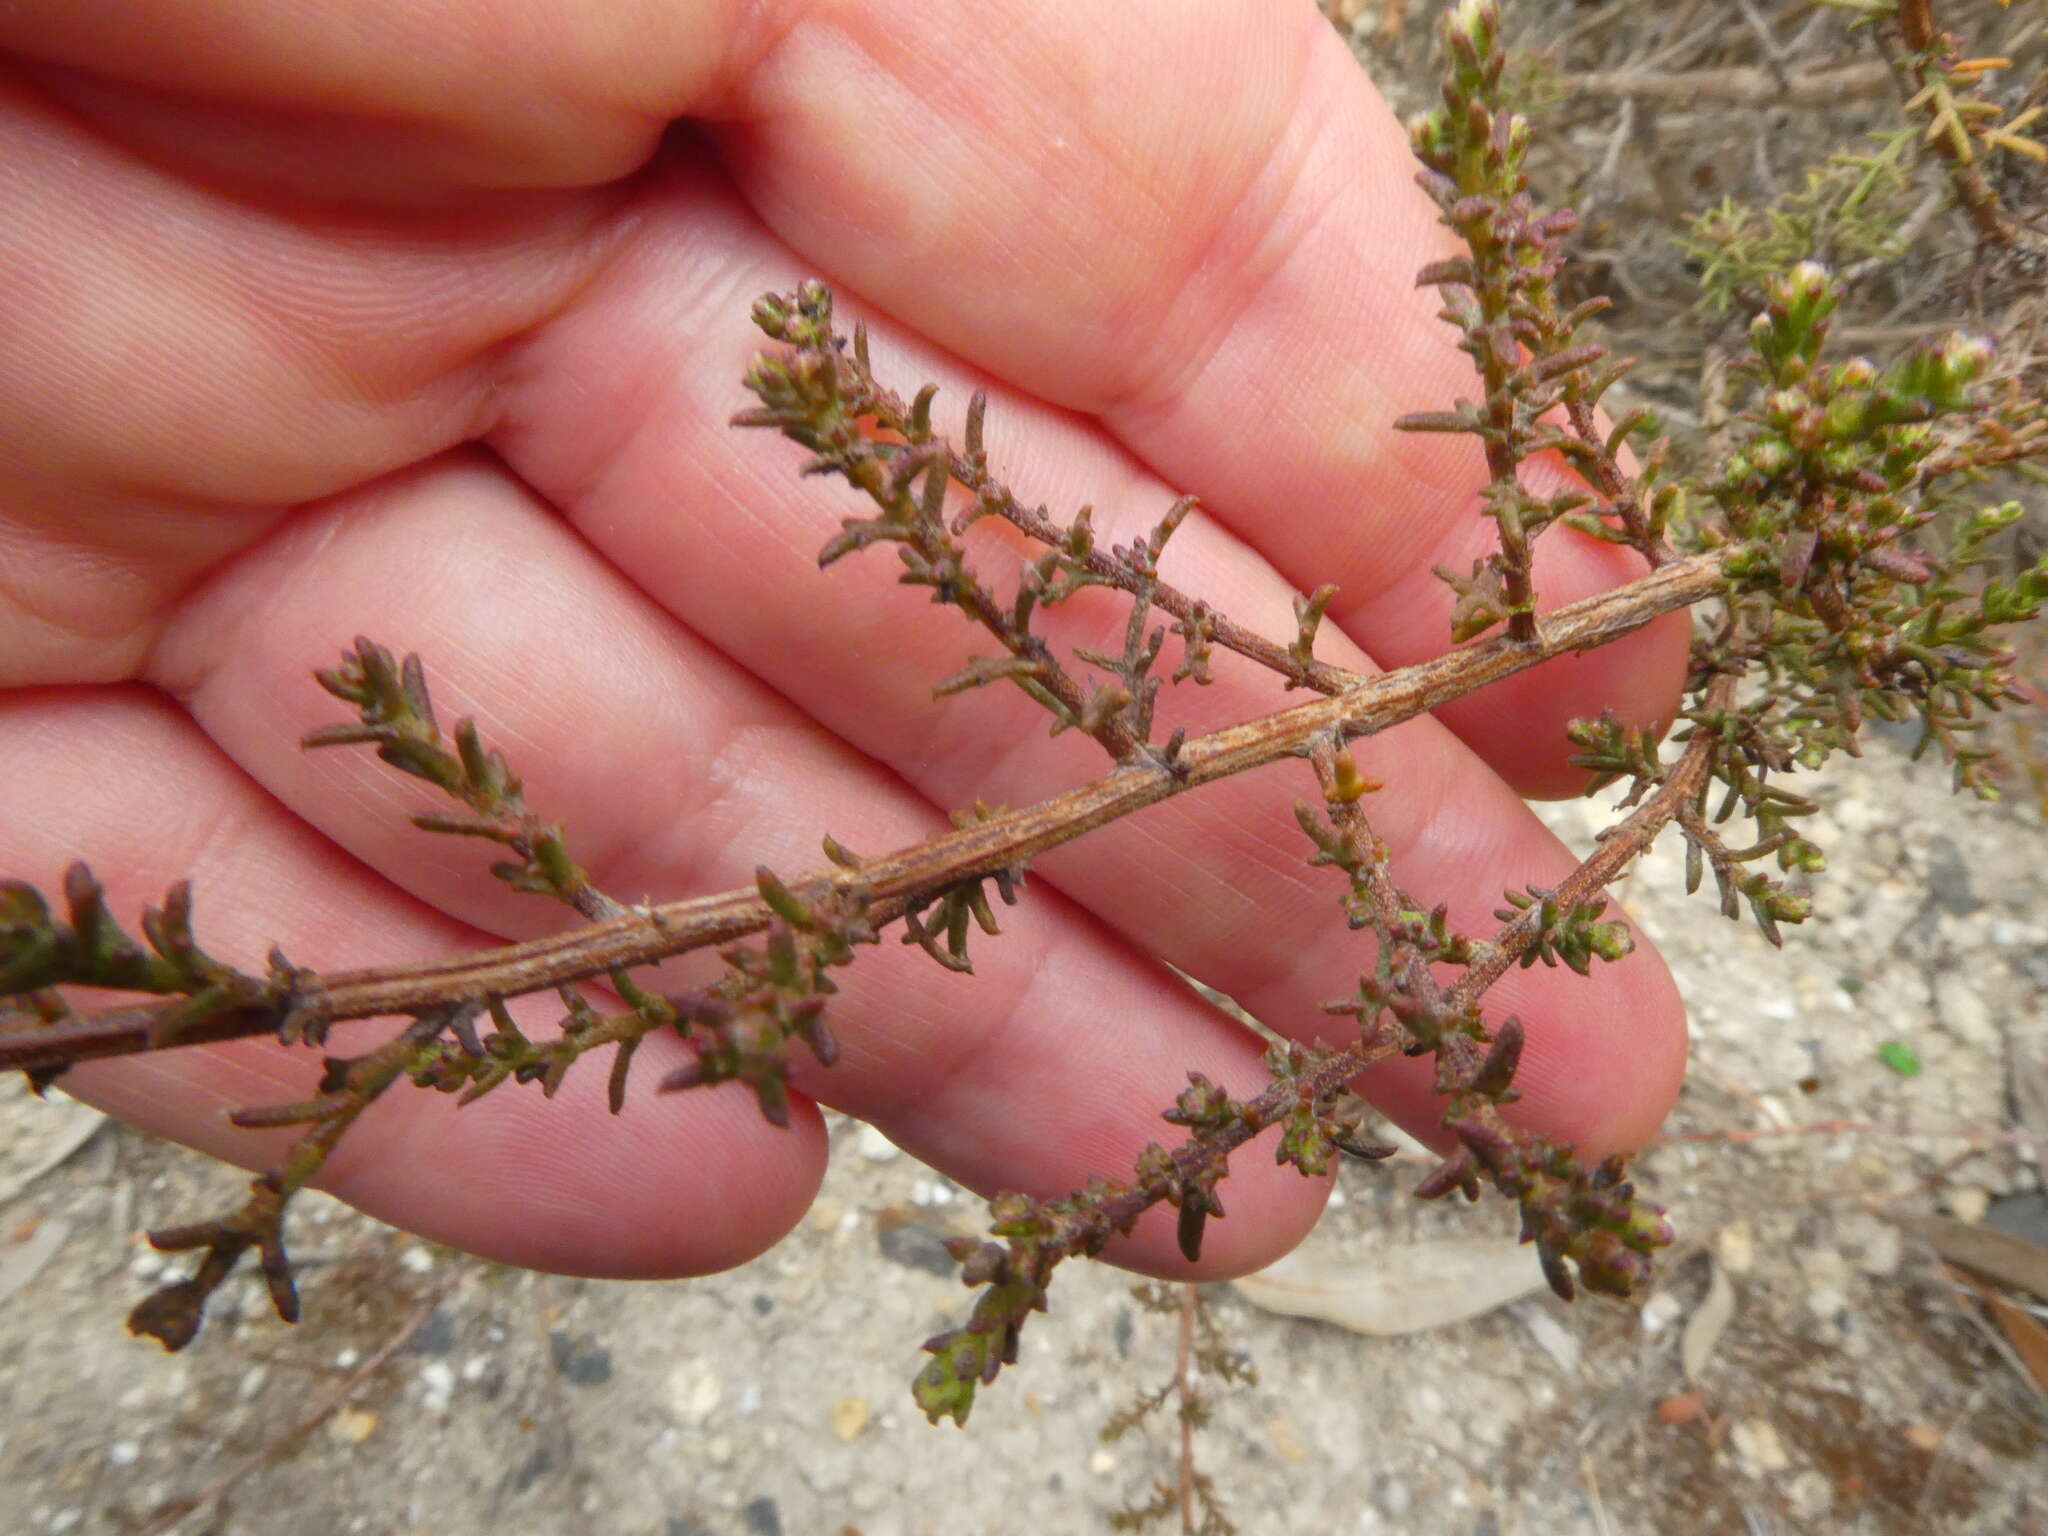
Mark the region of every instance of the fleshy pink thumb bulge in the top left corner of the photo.
<instances>
[{"instance_id":1,"label":"fleshy pink thumb bulge in the top left corner of the photo","mask_svg":"<svg viewBox=\"0 0 2048 1536\"><path fill-rule=\"evenodd\" d=\"M739 25L739 6L653 0L31 0L0 45L100 133L213 180L426 205L625 176Z\"/></svg>"}]
</instances>

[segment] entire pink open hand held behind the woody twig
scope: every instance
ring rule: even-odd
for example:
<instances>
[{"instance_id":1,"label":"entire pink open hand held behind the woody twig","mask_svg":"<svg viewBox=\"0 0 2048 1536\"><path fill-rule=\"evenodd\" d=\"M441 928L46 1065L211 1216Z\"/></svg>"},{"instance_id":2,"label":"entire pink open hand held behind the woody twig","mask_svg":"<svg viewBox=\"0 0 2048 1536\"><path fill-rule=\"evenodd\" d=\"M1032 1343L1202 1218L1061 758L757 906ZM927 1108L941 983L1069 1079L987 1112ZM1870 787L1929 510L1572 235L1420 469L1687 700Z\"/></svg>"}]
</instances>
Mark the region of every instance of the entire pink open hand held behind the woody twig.
<instances>
[{"instance_id":1,"label":"entire pink open hand held behind the woody twig","mask_svg":"<svg viewBox=\"0 0 2048 1536\"><path fill-rule=\"evenodd\" d=\"M1028 500L1094 502L1130 539L1200 496L1167 578L1268 635L1292 592L1339 584L1329 662L1442 651L1430 567L1487 547L1473 444L1389 426L1473 393L1413 287L1446 236L1307 0L25 0L0 45L0 870L49 889L84 856L123 913L190 874L225 958L399 963L561 922L412 829L418 782L297 750L338 719L309 670L356 633L420 651L442 719L475 713L629 901L1104 770L1018 694L932 700L975 637L887 555L819 573L858 508L725 426L750 299L807 274L868 319L885 377L942 385L952 430L989 391ZM1014 565L1004 537L981 549ZM1561 530L1538 588L1632 573ZM1100 643L1122 612L1081 600L1051 633ZM1665 717L1683 647L1673 618L1360 743L1397 879L1466 932L1503 887L1559 879L1573 860L1518 797L1573 793L1571 717ZM1247 664L1217 674L1169 719L1288 702ZM1370 963L1303 862L1303 793L1276 766L1047 858L971 979L864 950L844 1057L797 1085L979 1190L1126 1171L1188 1069L1262 1075L1161 961L1303 1036ZM1647 946L1587 981L1516 971L1489 1008L1530 1026L1526 1122L1589 1151L1655 1130L1683 1016ZM680 1051L649 1042L616 1120L602 1063L555 1104L395 1090L326 1184L516 1264L741 1262L809 1202L821 1120L801 1096L788 1130L743 1087L655 1096ZM1425 1065L1370 1085L1417 1128ZM66 1085L260 1163L281 1143L223 1110L313 1073L242 1042ZM1200 1266L1169 1212L1118 1260L1225 1276L1298 1241L1325 1186L1264 1147L1239 1161Z\"/></svg>"}]
</instances>

